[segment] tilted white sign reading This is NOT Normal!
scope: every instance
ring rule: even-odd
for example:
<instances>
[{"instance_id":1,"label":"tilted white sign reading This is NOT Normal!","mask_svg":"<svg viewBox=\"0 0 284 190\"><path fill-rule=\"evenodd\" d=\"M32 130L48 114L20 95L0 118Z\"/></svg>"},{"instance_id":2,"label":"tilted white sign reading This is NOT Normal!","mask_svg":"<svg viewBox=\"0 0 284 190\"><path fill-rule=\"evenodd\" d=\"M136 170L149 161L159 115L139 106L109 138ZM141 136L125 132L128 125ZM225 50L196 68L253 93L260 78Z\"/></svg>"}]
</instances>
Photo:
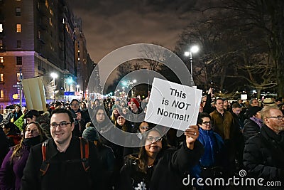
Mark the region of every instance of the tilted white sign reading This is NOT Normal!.
<instances>
[{"instance_id":1,"label":"tilted white sign reading This is NOT Normal!","mask_svg":"<svg viewBox=\"0 0 284 190\"><path fill-rule=\"evenodd\" d=\"M154 78L146 122L185 131L196 125L202 90Z\"/></svg>"}]
</instances>

